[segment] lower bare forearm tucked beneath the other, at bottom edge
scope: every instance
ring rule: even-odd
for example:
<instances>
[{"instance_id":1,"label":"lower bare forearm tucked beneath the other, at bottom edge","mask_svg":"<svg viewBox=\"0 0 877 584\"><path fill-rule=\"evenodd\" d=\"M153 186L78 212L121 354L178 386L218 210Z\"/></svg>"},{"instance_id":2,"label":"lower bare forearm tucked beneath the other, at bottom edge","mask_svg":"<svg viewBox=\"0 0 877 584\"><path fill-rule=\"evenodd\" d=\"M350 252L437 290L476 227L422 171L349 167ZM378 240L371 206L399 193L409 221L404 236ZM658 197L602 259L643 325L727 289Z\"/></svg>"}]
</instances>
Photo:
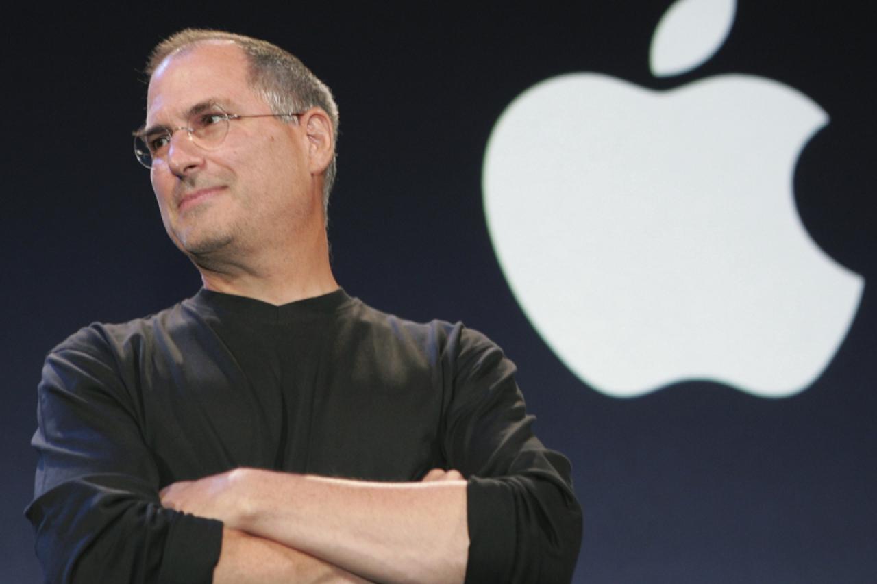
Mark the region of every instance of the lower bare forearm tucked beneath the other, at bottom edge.
<instances>
[{"instance_id":1,"label":"lower bare forearm tucked beneath the other, at bottom edge","mask_svg":"<svg viewBox=\"0 0 877 584\"><path fill-rule=\"evenodd\" d=\"M214 584L367 581L304 552L227 527L213 572Z\"/></svg>"}]
</instances>

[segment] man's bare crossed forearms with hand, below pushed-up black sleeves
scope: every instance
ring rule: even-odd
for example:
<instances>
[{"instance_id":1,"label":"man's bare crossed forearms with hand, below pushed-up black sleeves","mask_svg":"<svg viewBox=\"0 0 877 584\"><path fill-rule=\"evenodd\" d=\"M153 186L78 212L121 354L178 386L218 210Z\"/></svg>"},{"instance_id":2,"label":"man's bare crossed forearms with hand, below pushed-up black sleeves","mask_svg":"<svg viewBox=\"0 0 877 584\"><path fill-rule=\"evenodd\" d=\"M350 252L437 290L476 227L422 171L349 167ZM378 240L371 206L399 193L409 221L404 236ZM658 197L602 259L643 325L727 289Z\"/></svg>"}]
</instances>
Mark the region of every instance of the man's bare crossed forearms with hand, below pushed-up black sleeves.
<instances>
[{"instance_id":1,"label":"man's bare crossed forearms with hand, below pushed-up black sleeves","mask_svg":"<svg viewBox=\"0 0 877 584\"><path fill-rule=\"evenodd\" d=\"M461 582L467 483L434 469L381 483L239 468L161 491L169 508L225 523L214 581ZM356 575L358 574L358 575Z\"/></svg>"}]
</instances>

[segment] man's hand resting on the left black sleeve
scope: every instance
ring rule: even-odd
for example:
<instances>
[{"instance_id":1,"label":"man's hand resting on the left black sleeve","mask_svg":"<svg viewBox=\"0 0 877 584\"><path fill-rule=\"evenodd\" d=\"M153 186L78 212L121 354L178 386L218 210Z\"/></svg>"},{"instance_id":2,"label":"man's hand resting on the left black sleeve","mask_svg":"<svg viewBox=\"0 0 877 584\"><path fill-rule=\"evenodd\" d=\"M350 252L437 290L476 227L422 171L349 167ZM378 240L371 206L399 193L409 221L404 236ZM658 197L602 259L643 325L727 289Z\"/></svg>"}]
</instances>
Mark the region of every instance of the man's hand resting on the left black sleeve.
<instances>
[{"instance_id":1,"label":"man's hand resting on the left black sleeve","mask_svg":"<svg viewBox=\"0 0 877 584\"><path fill-rule=\"evenodd\" d=\"M218 519L234 527L240 512L241 497L235 487L244 469L206 476L197 481L179 481L162 488L161 504L175 511Z\"/></svg>"}]
</instances>

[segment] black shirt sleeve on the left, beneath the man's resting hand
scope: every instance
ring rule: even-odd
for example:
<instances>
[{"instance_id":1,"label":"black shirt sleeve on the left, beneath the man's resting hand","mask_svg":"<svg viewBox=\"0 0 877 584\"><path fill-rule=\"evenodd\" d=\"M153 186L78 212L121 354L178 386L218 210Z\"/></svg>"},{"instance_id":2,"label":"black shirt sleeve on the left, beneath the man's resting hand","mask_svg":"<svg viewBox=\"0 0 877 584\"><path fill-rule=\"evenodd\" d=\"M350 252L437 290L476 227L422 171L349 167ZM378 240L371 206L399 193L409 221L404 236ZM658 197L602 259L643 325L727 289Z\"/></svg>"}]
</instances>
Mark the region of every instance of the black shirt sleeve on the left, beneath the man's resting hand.
<instances>
[{"instance_id":1,"label":"black shirt sleeve on the left, beneath the man's resting hand","mask_svg":"<svg viewBox=\"0 0 877 584\"><path fill-rule=\"evenodd\" d=\"M136 391L102 333L83 329L59 345L39 384L25 515L46 581L210 582L222 523L160 505Z\"/></svg>"}]
</instances>

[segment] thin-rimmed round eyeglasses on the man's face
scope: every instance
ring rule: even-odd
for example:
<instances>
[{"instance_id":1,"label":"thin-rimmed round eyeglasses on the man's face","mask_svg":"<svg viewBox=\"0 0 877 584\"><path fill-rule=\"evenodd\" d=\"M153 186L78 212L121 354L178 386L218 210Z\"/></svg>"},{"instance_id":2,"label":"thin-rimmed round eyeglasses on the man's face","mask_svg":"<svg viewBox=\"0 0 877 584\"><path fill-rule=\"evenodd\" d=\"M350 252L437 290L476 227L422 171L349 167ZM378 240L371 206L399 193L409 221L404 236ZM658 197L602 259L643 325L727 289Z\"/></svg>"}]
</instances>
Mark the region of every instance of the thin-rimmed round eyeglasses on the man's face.
<instances>
[{"instance_id":1,"label":"thin-rimmed round eyeglasses on the man's face","mask_svg":"<svg viewBox=\"0 0 877 584\"><path fill-rule=\"evenodd\" d=\"M225 112L218 105L199 109L189 116L188 124L171 128L166 125L153 126L134 132L134 156L146 168L153 167L153 160L168 155L171 137L177 130L185 130L189 140L204 150L215 150L222 146L228 135L230 122L243 118L291 118L301 116L302 112L282 114L254 114L241 116Z\"/></svg>"}]
</instances>

